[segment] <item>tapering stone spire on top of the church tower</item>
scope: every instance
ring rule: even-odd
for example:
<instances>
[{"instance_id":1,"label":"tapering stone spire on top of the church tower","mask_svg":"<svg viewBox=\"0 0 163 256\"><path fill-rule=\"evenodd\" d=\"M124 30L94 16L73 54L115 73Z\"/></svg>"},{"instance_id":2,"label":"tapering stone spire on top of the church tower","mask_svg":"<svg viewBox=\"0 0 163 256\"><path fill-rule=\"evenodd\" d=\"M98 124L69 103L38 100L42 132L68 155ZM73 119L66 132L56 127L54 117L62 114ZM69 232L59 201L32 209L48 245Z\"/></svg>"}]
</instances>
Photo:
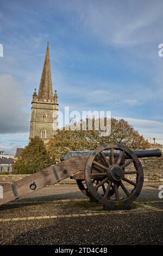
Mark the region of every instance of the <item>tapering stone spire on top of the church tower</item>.
<instances>
[{"instance_id":1,"label":"tapering stone spire on top of the church tower","mask_svg":"<svg viewBox=\"0 0 163 256\"><path fill-rule=\"evenodd\" d=\"M49 57L49 44L48 43L47 43L47 48L46 48L45 60L43 63L38 99L53 100L51 63L50 63L50 57Z\"/></svg>"}]
</instances>

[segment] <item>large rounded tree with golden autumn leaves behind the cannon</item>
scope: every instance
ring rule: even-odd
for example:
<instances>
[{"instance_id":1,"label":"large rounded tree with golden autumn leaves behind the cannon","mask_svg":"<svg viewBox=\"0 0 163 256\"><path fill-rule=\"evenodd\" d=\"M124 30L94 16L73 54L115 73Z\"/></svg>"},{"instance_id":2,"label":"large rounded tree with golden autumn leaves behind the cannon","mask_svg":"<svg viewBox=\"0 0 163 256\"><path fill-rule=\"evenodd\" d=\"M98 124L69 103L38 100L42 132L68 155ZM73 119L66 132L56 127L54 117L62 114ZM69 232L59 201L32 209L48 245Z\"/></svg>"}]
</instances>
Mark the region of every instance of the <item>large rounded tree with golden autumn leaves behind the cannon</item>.
<instances>
[{"instance_id":1,"label":"large rounded tree with golden autumn leaves behind the cannon","mask_svg":"<svg viewBox=\"0 0 163 256\"><path fill-rule=\"evenodd\" d=\"M46 148L52 162L56 163L60 161L60 157L65 155L67 151L94 150L103 143L111 142L126 145L130 149L150 147L150 144L127 121L111 118L111 133L109 136L102 136L101 132L95 129L92 131L58 130L46 144Z\"/></svg>"}]
</instances>

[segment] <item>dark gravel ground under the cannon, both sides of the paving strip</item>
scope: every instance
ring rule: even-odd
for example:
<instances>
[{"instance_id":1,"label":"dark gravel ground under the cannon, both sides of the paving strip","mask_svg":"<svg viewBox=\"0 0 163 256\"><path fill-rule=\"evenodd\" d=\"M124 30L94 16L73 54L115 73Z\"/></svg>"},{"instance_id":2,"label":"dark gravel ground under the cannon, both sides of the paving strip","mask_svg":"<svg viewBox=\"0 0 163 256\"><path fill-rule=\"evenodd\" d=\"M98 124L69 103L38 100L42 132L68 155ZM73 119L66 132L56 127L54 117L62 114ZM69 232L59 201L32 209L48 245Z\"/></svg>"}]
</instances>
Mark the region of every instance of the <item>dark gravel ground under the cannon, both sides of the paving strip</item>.
<instances>
[{"instance_id":1,"label":"dark gravel ground under the cannon, both sides of the paving strip","mask_svg":"<svg viewBox=\"0 0 163 256\"><path fill-rule=\"evenodd\" d=\"M158 184L146 184L137 201L131 211L111 215L0 222L0 245L162 245L163 212L148 209L163 209ZM76 185L55 185L0 206L0 218L102 210L102 204L90 203Z\"/></svg>"}]
</instances>

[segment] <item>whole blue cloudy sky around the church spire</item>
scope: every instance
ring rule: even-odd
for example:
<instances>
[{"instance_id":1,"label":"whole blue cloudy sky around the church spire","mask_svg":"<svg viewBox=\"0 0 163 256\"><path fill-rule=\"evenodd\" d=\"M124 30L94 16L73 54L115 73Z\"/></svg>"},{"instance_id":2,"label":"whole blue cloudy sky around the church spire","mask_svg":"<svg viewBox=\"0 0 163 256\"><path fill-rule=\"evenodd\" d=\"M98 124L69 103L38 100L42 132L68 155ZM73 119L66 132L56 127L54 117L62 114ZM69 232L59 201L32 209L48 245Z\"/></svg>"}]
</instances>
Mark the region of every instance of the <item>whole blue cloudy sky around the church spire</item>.
<instances>
[{"instance_id":1,"label":"whole blue cloudy sky around the church spire","mask_svg":"<svg viewBox=\"0 0 163 256\"><path fill-rule=\"evenodd\" d=\"M60 111L111 111L163 144L162 8L161 0L0 0L0 150L28 144L47 41Z\"/></svg>"}]
</instances>

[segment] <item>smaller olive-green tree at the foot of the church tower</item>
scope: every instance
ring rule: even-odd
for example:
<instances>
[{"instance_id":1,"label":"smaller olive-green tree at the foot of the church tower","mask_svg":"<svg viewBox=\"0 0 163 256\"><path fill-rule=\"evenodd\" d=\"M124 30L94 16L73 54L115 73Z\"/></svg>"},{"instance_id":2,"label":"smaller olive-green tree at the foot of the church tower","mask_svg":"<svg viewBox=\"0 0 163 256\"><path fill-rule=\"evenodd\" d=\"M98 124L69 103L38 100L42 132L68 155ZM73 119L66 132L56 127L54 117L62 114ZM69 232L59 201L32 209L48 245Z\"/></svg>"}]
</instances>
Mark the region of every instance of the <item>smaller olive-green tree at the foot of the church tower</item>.
<instances>
[{"instance_id":1,"label":"smaller olive-green tree at the foot of the church tower","mask_svg":"<svg viewBox=\"0 0 163 256\"><path fill-rule=\"evenodd\" d=\"M45 168L47 165L51 165L51 159L46 147L42 139L35 137L22 151L13 167L14 173L30 174Z\"/></svg>"}]
</instances>

